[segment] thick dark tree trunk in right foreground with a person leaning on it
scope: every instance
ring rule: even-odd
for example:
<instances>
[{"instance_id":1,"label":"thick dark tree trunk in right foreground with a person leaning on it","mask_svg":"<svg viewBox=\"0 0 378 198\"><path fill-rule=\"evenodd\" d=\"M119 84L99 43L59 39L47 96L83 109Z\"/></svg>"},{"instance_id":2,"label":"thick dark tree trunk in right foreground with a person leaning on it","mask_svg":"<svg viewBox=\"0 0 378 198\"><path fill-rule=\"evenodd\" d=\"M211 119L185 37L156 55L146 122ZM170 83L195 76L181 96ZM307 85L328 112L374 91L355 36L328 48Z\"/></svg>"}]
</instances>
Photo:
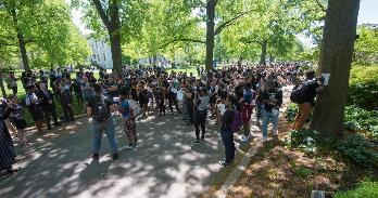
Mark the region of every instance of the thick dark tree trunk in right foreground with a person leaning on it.
<instances>
[{"instance_id":1,"label":"thick dark tree trunk in right foreground with a person leaning on it","mask_svg":"<svg viewBox=\"0 0 378 198\"><path fill-rule=\"evenodd\" d=\"M317 96L311 129L325 136L343 134L343 117L360 0L330 0L326 15L319 72L330 74L329 83Z\"/></svg>"}]
</instances>

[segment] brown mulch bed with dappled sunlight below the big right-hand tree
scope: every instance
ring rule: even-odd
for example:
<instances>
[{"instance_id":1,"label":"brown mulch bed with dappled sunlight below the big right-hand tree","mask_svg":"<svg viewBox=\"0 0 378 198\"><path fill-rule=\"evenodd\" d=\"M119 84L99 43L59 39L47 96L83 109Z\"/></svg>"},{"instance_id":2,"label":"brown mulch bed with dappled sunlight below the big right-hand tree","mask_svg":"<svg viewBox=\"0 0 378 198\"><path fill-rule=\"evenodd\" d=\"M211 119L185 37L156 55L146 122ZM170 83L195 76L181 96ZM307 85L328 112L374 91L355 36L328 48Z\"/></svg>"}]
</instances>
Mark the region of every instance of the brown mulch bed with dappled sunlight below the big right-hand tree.
<instances>
[{"instance_id":1,"label":"brown mulch bed with dappled sunlight below the big right-hand tree","mask_svg":"<svg viewBox=\"0 0 378 198\"><path fill-rule=\"evenodd\" d=\"M327 153L307 156L286 148L284 140L290 124L282 118L279 126L278 140L264 145L251 159L228 197L310 197L314 189L329 192L330 197L371 174Z\"/></svg>"}]
</instances>

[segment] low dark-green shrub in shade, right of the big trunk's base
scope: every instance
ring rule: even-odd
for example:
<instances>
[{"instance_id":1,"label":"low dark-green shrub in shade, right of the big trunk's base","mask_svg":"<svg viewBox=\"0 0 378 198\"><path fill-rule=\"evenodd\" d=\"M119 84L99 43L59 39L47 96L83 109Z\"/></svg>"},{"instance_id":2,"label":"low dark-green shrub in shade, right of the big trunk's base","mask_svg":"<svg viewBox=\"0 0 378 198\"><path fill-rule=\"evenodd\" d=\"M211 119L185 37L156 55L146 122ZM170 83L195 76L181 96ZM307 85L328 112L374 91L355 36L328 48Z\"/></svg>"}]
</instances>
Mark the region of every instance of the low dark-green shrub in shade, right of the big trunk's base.
<instances>
[{"instance_id":1,"label":"low dark-green shrub in shade, right of the big trunk's base","mask_svg":"<svg viewBox=\"0 0 378 198\"><path fill-rule=\"evenodd\" d=\"M377 145L362 135L351 135L337 144L343 157L363 167L378 167Z\"/></svg>"}]
</instances>

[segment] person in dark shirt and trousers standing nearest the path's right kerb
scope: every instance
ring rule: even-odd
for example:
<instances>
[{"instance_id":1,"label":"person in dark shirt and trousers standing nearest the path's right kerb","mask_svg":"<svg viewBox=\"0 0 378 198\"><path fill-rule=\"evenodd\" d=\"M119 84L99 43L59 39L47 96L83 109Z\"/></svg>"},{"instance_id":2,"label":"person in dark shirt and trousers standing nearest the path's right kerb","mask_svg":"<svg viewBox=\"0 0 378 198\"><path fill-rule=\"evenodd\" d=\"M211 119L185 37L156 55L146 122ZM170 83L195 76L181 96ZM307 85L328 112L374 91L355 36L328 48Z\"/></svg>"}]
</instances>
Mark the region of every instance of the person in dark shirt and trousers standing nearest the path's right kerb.
<instances>
[{"instance_id":1,"label":"person in dark shirt and trousers standing nearest the path's right kerb","mask_svg":"<svg viewBox=\"0 0 378 198\"><path fill-rule=\"evenodd\" d=\"M238 101L234 95L228 95L225 102L226 111L220 113L220 137L225 146L225 159L220 160L219 163L223 167L227 167L234 162L235 159L235 143L234 143L234 132L231 130L231 124L234 122L235 114L237 114L236 105Z\"/></svg>"}]
</instances>

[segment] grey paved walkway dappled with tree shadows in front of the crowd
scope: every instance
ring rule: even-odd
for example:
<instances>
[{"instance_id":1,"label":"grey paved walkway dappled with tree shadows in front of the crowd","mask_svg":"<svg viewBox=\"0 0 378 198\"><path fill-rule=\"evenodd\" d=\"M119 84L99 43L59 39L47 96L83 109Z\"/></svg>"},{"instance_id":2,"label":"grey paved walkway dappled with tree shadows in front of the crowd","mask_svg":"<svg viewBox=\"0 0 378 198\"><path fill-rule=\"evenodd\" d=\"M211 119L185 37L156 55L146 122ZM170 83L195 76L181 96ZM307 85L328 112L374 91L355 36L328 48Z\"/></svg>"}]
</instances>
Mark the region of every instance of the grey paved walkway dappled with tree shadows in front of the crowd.
<instances>
[{"instance_id":1,"label":"grey paved walkway dappled with tree shadows in front of the crowd","mask_svg":"<svg viewBox=\"0 0 378 198\"><path fill-rule=\"evenodd\" d=\"M205 144L191 145L194 130L180 118L167 114L138 121L141 144L134 150L125 148L117 121L117 161L111 160L104 136L100 162L92 162L87 118L32 136L33 145L17 147L23 170L0 181L0 197L197 197L219 171L224 148L214 124Z\"/></svg>"}]
</instances>

